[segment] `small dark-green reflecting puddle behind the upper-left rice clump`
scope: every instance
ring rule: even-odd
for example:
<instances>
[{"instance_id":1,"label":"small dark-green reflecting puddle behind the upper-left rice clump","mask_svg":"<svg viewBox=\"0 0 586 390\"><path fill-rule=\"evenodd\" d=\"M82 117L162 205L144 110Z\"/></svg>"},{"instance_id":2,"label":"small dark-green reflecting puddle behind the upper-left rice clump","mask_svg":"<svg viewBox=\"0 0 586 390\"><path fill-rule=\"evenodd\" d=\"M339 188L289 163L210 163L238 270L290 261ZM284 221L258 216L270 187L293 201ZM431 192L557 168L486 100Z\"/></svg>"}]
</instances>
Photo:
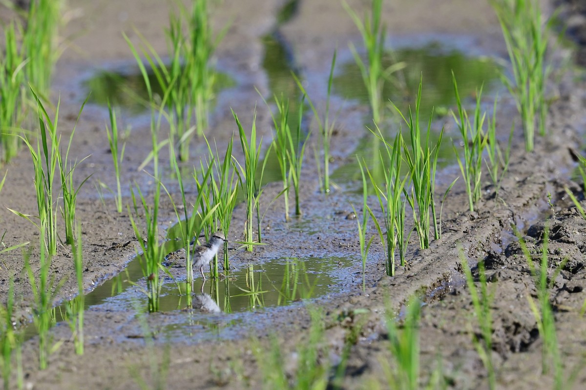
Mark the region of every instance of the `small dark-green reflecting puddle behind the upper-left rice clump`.
<instances>
[{"instance_id":1,"label":"small dark-green reflecting puddle behind the upper-left rice clump","mask_svg":"<svg viewBox=\"0 0 586 390\"><path fill-rule=\"evenodd\" d=\"M129 69L134 70L134 73L129 73ZM148 71L148 77L153 94L162 96L163 89L152 70ZM236 81L228 74L216 72L216 83L214 84L216 94L223 89L234 86L236 86ZM147 110L142 103L142 100L148 96L147 85L134 64L133 66L125 64L120 67L120 70L98 71L83 83L83 88L91 91L88 101L90 103L107 106L108 100L110 100L113 105L125 108L133 114Z\"/></svg>"}]
</instances>

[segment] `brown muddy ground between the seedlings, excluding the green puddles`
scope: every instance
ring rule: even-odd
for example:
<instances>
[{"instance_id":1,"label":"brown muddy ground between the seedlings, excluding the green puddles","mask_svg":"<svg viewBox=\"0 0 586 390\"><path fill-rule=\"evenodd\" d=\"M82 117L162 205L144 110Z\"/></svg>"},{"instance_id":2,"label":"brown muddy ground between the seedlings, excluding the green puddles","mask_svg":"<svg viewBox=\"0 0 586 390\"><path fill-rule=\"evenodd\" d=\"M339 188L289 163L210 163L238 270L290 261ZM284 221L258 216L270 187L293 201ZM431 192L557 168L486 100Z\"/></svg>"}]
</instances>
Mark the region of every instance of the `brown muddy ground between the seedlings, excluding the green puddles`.
<instances>
[{"instance_id":1,"label":"brown muddy ground between the seedlings, excluding the green puddles","mask_svg":"<svg viewBox=\"0 0 586 390\"><path fill-rule=\"evenodd\" d=\"M360 2L350 2L355 8ZM476 46L488 53L503 54L499 26L485 1L447 1L441 6L436 1L425 0L394 2L387 5L385 20L393 37L423 34L442 37L450 34L466 34ZM258 100L252 88L257 86L268 94L267 80L261 67L263 46L260 37L275 27L275 12L279 1L226 0L214 14L214 25L222 26L232 20L232 26L219 47L217 60L228 70L244 75L242 85L230 99L213 114L213 130L219 149L235 130L230 116L230 106L246 123L251 122L254 103ZM80 74L87 74L103 66L104 61L131 64L131 53L120 32L133 40L136 35L132 26L144 34L158 50L165 49L163 28L167 22L167 5L159 1L128 0L125 2L90 2L71 0L69 8L74 19L67 25L64 36L72 37L56 67L53 98L62 98L61 128L63 136L73 127L83 94L79 84ZM458 21L457 23L454 21ZM298 15L281 27L281 33L291 44L296 63L308 73L327 73L331 53L336 44L345 46L348 40L359 42L355 26L338 2L314 0L301 2ZM124 62L127 61L127 62ZM383 378L381 360L390 360L387 348L387 331L383 312L386 307L399 312L404 302L413 295L427 297L421 321L422 383L430 377L438 356L442 360L442 376L452 388L487 388L482 362L471 343L469 327L476 329L471 298L465 287L464 276L458 260L458 246L465 249L471 264L485 261L488 268L489 286L495 291L493 303L494 333L493 358L496 362L499 388L531 389L550 388L551 375L541 374L541 340L536 320L530 310L527 296L536 295L529 268L519 257L519 249L510 225L527 231L530 249L539 249L543 236L543 222L551 216L546 195L553 195L556 213L551 225L550 261L553 266L568 257L564 270L555 280L552 303L556 312L558 339L563 351L565 370L570 372L581 367L583 348L586 343L584 320L578 315L586 299L584 291L584 258L586 256L586 222L570 205L564 187L578 192L578 186L570 181L574 162L568 148L578 150L583 126L586 84L576 74L567 73L551 91L557 95L550 110L547 127L549 136L536 141L533 153L524 153L517 133L513 147L510 171L503 181L499 198L491 196L487 187L479 212L466 212L463 187L456 185L444 208L444 232L442 239L434 241L429 250L415 250L410 246L406 268L399 268L396 277L384 275L383 251L377 244L370 253L366 291L359 287L361 273L358 238L355 220L345 216L351 211L349 202L358 202L356 195L334 191L328 196L318 193L316 166L308 158L304 168L305 181L302 191L304 215L299 223L282 221L282 202L268 206L264 219L264 239L267 246L247 254L240 250L230 253L234 265L242 267L253 261L264 261L275 256L343 256L356 258L355 281L340 294L321 298L316 305L324 309L327 324L324 344L331 349L329 356L339 356L347 329L361 326L357 343L352 347L349 365L344 378L345 388L366 388L367 379ZM322 96L321 87L308 86L309 94ZM319 98L317 98L319 101ZM265 140L270 138L270 118L266 109L258 106L257 127ZM340 129L333 139L335 165L341 164L357 144L356 134L362 134L360 123L354 125L364 107L353 106L340 113ZM122 117L122 121L124 121ZM518 122L510 98L499 103L499 129L506 133L513 120ZM105 112L103 108L88 106L78 125L74 152L78 158L91 154L80 165L80 178L94 174L92 180L114 185L110 154L104 134ZM149 129L134 125L128 140L127 154L122 172L124 182L137 181L148 190L149 182L138 165L150 150ZM311 142L316 143L312 136ZM193 150L199 150L193 141ZM311 146L310 146L311 148ZM238 148L235 148L235 150ZM238 156L237 156L238 157ZM457 168L456 168L457 169ZM6 229L4 243L7 246L24 241L33 244L33 264L38 232L35 228L13 215L6 207L34 214L35 195L32 188L32 165L26 151L0 170L8 171L0 204L0 232ZM449 183L456 170L442 172L442 183ZM279 185L268 185L263 204L279 191ZM193 192L190 197L193 198ZM128 200L128 199L127 199ZM168 227L175 222L168 201L162 203L161 225ZM112 199L105 206L98 198L93 182L80 193L77 218L83 231L84 283L87 288L110 277L124 267L134 255L137 245L125 213L115 212ZM240 239L244 208L238 206L232 223L230 239ZM303 223L306 223L305 227ZM309 226L309 227L307 227ZM270 229L268 229L270 227ZM315 228L315 234L308 230ZM20 307L30 312L29 285L20 275L23 266L19 253L2 254L0 268L0 294L8 291L8 278L16 275L17 289L23 300ZM53 259L52 272L57 278L67 278L59 298L68 298L76 291L71 267L70 251L60 247ZM388 302L387 302L388 301ZM367 309L366 314L352 315L353 310ZM151 329L159 329L169 317L182 313L157 313L149 316ZM192 340L171 343L170 368L167 388L243 388L258 387L261 381L254 357L251 354L250 337L264 341L268 334L276 332L287 361L294 359L293 351L306 338L309 315L305 305L292 305L279 310L251 313L240 325L229 328L230 337L200 337L203 327ZM35 389L135 389L138 385L130 371L136 368L149 380L147 351L142 339L136 336L140 327L130 310L89 310L86 316L87 346L83 356L76 356L70 342L69 329L65 325L55 327L56 339L64 339L63 346L50 359L49 368L37 367L38 340L26 341L23 351L27 388ZM165 343L159 340L156 355L162 356ZM583 388L586 374L581 370L574 388Z\"/></svg>"}]
</instances>

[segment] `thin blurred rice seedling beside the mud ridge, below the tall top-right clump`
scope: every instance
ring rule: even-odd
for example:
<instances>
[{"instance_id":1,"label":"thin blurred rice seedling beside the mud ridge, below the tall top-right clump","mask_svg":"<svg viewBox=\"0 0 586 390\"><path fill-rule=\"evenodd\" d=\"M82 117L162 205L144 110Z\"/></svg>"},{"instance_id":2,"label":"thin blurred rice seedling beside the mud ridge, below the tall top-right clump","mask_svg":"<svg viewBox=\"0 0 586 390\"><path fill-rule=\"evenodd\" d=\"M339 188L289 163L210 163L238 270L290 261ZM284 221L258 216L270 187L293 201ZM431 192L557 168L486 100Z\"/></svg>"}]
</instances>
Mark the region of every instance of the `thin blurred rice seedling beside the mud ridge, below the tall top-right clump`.
<instances>
[{"instance_id":1,"label":"thin blurred rice seedling beside the mud ridge, below the tall top-right clump","mask_svg":"<svg viewBox=\"0 0 586 390\"><path fill-rule=\"evenodd\" d=\"M507 147L505 150L503 150L500 147L499 141L496 139L497 100L498 96L495 98L495 105L492 110L492 119L490 117L488 118L488 131L486 133L486 136L488 137L486 143L488 161L485 159L486 167L488 167L488 173L490 175L490 180L495 186L495 197L499 195L500 183L505 177L507 170L509 170L510 150L513 144L513 130L515 130L515 124L513 123L509 132L509 141L507 142ZM499 172L500 168L502 168L502 170Z\"/></svg>"}]
</instances>

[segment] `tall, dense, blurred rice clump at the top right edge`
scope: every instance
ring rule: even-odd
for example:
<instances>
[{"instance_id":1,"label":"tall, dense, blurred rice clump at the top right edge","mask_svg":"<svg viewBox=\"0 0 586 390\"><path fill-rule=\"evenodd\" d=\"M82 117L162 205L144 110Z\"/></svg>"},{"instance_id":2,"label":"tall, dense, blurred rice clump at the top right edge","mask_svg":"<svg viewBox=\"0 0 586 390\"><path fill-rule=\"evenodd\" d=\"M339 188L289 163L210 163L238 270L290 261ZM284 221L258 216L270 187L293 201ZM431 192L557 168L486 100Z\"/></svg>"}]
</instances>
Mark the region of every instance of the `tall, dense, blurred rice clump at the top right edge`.
<instances>
[{"instance_id":1,"label":"tall, dense, blurred rice clump at the top right edge","mask_svg":"<svg viewBox=\"0 0 586 390\"><path fill-rule=\"evenodd\" d=\"M539 134L546 134L548 102L546 82L551 64L546 62L547 41L552 20L543 23L537 0L491 0L512 65L512 77L503 75L521 115L525 148L533 150L536 120Z\"/></svg>"}]
</instances>

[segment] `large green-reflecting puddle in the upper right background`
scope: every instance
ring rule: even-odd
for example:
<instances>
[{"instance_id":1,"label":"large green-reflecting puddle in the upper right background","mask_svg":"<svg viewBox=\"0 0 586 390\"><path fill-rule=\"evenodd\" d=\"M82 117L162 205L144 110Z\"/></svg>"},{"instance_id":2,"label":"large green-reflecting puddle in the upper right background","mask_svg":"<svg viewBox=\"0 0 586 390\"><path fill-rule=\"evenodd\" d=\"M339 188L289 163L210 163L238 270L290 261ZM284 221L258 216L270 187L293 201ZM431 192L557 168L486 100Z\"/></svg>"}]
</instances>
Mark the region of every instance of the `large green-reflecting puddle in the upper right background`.
<instances>
[{"instance_id":1,"label":"large green-reflecting puddle in the upper right background","mask_svg":"<svg viewBox=\"0 0 586 390\"><path fill-rule=\"evenodd\" d=\"M423 74L424 83L420 108L421 127L423 129L427 129L427 121L432 108L435 108L435 119L441 119L444 122L452 121L448 112L448 109L456 103L452 84L452 70L458 77L458 88L463 99L474 96L476 88L479 88L483 83L485 96L488 95L487 92L490 91L492 82L498 78L498 65L494 61L485 57L465 56L460 51L446 49L441 43L430 43L418 49L396 50L393 52L393 58L388 54L383 61L384 66L388 67L398 61L404 61L406 67L396 74L397 82L387 82L384 85L383 100L386 102L393 101L407 115L408 106L415 99L420 77ZM362 78L360 78L360 71L356 63L351 60L340 65L340 68L339 75L333 81L334 92L343 98L357 99L368 105L367 91ZM464 103L466 103L466 100ZM489 109L488 103L486 108ZM389 111L390 109L387 109L387 112ZM367 125L370 126L370 123L367 123ZM404 139L409 142L408 129L404 123L402 125ZM396 126L393 127L396 128ZM394 132L389 130L389 126L383 125L380 126L380 129L387 139L393 140ZM432 123L433 133L430 134L430 144L433 145L437 142L440 129L441 123L439 125ZM384 145L368 130L365 131L366 134L360 137L353 153L333 172L332 181L338 184L359 182L359 187L362 188L362 176L356 160L357 155L360 160L364 159L366 161L375 180L380 184L384 183L383 167L389 163L384 160L381 162L379 158L381 152L383 156L386 154ZM438 168L455 164L455 158L450 134L444 133Z\"/></svg>"}]
</instances>

